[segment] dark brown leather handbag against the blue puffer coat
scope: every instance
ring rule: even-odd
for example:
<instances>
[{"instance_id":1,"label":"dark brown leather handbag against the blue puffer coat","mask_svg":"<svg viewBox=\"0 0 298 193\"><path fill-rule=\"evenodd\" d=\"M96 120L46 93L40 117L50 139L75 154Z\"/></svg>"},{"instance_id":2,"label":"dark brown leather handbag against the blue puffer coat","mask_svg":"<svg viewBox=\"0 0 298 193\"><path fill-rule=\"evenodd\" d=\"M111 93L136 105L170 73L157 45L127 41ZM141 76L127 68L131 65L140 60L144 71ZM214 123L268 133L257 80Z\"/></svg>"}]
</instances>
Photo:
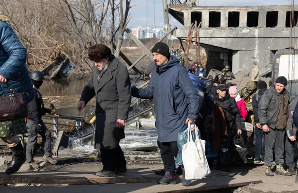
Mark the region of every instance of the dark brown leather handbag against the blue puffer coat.
<instances>
[{"instance_id":1,"label":"dark brown leather handbag against the blue puffer coat","mask_svg":"<svg viewBox=\"0 0 298 193\"><path fill-rule=\"evenodd\" d=\"M26 92L14 93L7 82L10 94L0 97L0 122L28 116L24 95Z\"/></svg>"}]
</instances>

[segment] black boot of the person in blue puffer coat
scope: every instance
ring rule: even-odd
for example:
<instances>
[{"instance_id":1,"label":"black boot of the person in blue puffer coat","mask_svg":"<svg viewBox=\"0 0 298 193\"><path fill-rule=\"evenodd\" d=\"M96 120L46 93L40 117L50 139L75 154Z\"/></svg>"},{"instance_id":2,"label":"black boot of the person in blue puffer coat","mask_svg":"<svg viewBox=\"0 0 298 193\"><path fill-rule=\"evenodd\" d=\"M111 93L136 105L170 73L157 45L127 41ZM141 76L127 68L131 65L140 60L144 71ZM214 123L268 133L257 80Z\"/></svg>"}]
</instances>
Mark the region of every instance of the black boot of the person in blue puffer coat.
<instances>
[{"instance_id":1,"label":"black boot of the person in blue puffer coat","mask_svg":"<svg viewBox=\"0 0 298 193\"><path fill-rule=\"evenodd\" d=\"M7 175L16 173L26 161L26 154L23 152L23 146L21 142L14 147L10 147L10 149L12 153L12 159L5 171L5 174Z\"/></svg>"}]
</instances>

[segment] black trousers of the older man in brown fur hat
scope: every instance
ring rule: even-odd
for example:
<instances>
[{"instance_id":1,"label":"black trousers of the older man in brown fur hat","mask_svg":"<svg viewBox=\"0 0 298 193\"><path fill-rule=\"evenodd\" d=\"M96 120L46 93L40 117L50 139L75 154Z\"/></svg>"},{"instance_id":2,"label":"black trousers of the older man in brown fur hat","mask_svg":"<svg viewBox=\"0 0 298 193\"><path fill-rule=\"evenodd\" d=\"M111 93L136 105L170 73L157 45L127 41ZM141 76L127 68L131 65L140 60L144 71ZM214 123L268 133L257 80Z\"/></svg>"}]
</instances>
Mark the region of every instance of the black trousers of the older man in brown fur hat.
<instances>
[{"instance_id":1,"label":"black trousers of the older man in brown fur hat","mask_svg":"<svg viewBox=\"0 0 298 193\"><path fill-rule=\"evenodd\" d=\"M121 147L114 149L100 149L101 163L103 164L103 169L109 171L116 171L117 169L126 166L126 160Z\"/></svg>"}]
</instances>

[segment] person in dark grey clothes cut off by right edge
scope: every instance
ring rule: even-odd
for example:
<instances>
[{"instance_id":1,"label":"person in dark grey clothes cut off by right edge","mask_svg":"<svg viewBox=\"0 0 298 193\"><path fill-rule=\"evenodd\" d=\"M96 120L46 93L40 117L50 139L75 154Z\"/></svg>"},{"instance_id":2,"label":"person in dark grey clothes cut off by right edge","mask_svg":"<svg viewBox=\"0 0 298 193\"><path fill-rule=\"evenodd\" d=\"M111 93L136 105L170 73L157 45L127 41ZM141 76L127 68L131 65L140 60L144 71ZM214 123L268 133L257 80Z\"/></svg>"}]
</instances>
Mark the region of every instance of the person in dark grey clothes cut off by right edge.
<instances>
[{"instance_id":1,"label":"person in dark grey clothes cut off by right edge","mask_svg":"<svg viewBox=\"0 0 298 193\"><path fill-rule=\"evenodd\" d=\"M288 122L287 122L287 137L285 141L285 152L286 152L286 165L287 168L289 168L289 172L291 172L292 175L296 174L295 168L296 168L296 162L294 161L294 151L295 151L295 143L297 142L298 138L298 130L297 127L294 125L293 122L293 113L295 110L295 107L298 102L298 97L293 99L289 105L289 112L288 112Z\"/></svg>"}]
</instances>

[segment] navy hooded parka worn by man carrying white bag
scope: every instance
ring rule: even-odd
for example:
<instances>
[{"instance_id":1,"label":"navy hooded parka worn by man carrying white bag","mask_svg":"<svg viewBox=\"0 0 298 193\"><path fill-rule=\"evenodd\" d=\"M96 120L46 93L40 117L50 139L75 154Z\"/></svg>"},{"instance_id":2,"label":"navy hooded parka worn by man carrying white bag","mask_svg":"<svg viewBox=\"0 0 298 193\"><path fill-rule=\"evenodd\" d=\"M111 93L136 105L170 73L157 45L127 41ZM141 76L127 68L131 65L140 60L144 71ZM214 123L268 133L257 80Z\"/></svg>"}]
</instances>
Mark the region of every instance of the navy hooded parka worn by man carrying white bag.
<instances>
[{"instance_id":1,"label":"navy hooded parka worn by man carrying white bag","mask_svg":"<svg viewBox=\"0 0 298 193\"><path fill-rule=\"evenodd\" d=\"M147 88L133 88L132 95L154 99L155 126L158 141L177 141L178 133L187 129L185 121L196 121L199 112L199 94L187 71L176 57L168 63L156 65Z\"/></svg>"}]
</instances>

